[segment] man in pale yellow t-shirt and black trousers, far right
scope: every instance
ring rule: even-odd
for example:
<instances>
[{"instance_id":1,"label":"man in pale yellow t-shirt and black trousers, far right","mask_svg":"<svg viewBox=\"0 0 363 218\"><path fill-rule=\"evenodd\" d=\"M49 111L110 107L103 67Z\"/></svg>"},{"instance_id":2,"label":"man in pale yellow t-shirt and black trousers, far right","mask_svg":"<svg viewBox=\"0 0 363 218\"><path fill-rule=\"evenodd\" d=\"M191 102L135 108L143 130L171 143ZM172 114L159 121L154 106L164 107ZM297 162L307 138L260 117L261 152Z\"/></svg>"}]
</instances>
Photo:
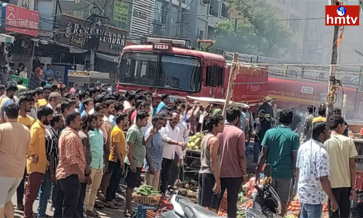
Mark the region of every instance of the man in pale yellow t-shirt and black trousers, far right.
<instances>
[{"instance_id":1,"label":"man in pale yellow t-shirt and black trousers, far right","mask_svg":"<svg viewBox=\"0 0 363 218\"><path fill-rule=\"evenodd\" d=\"M324 147L330 160L330 184L339 210L329 211L333 217L349 217L350 200L355 199L355 156L358 155L354 141L343 133L347 126L337 114L329 117L330 139ZM339 216L340 214L340 216Z\"/></svg>"}]
</instances>

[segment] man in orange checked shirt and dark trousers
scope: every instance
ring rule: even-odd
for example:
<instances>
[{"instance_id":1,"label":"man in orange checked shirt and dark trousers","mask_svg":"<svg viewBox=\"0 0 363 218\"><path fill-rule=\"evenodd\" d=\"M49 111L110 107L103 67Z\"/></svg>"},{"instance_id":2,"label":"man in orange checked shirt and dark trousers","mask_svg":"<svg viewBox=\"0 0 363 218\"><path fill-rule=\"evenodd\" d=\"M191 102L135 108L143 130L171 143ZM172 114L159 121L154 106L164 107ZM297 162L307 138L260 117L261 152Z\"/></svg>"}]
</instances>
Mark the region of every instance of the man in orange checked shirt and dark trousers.
<instances>
[{"instance_id":1,"label":"man in orange checked shirt and dark trousers","mask_svg":"<svg viewBox=\"0 0 363 218\"><path fill-rule=\"evenodd\" d=\"M81 182L85 181L85 154L78 136L81 130L81 113L69 112L66 129L59 138L58 166L56 171L57 193L54 217L74 217L81 195Z\"/></svg>"}]
</instances>

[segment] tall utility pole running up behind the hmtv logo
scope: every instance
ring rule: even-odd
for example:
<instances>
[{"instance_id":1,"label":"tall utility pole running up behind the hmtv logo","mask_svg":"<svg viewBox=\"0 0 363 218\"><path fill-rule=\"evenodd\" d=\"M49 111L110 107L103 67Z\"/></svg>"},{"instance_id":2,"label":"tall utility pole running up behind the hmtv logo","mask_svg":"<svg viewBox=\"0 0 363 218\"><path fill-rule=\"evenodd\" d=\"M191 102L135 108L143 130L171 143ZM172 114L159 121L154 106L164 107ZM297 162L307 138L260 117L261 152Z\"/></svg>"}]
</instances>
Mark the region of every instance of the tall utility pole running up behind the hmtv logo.
<instances>
[{"instance_id":1,"label":"tall utility pole running up behind the hmtv logo","mask_svg":"<svg viewBox=\"0 0 363 218\"><path fill-rule=\"evenodd\" d=\"M336 0L332 0L332 5L339 5L339 2ZM330 70L329 70L329 83L328 83L328 95L327 95L327 114L326 121L329 121L329 117L331 113L333 113L334 102L335 102L335 88L336 85L336 72L337 72L337 59L338 59L338 36L339 35L339 26L334 26L333 32L333 48L331 50L331 61L330 61Z\"/></svg>"}]
</instances>

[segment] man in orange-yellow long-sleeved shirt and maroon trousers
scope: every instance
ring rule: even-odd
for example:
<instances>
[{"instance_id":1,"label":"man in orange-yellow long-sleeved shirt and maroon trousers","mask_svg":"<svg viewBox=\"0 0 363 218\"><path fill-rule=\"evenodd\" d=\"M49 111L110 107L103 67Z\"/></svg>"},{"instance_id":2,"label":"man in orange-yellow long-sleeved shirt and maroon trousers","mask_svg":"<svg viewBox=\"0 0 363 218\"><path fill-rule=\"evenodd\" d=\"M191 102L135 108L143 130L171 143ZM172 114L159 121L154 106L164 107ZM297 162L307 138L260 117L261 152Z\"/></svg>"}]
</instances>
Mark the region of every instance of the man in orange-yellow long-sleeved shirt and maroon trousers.
<instances>
[{"instance_id":1,"label":"man in orange-yellow long-sleeved shirt and maroon trousers","mask_svg":"<svg viewBox=\"0 0 363 218\"><path fill-rule=\"evenodd\" d=\"M37 156L37 161L32 157L26 159L28 184L25 191L24 218L33 218L33 203L37 199L40 185L49 164L45 152L45 125L52 120L53 110L47 106L40 106L37 112L38 120L30 128L30 151Z\"/></svg>"}]
</instances>

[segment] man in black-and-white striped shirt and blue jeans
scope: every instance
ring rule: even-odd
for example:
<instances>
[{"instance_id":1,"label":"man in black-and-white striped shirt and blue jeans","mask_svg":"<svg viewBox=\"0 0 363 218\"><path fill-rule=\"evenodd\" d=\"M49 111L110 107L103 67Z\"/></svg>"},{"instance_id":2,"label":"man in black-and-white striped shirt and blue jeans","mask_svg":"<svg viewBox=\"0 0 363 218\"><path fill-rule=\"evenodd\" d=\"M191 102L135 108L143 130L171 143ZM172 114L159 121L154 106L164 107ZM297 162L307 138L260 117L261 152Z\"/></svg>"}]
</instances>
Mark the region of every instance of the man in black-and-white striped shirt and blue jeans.
<instances>
[{"instance_id":1,"label":"man in black-and-white striped shirt and blue jeans","mask_svg":"<svg viewBox=\"0 0 363 218\"><path fill-rule=\"evenodd\" d=\"M50 127L45 130L45 152L49 161L42 184L40 186L38 199L38 217L45 217L46 206L50 196L50 190L53 186L52 207L56 203L57 186L56 186L56 169L58 165L58 130L64 127L64 119L61 114L54 113Z\"/></svg>"}]
</instances>

